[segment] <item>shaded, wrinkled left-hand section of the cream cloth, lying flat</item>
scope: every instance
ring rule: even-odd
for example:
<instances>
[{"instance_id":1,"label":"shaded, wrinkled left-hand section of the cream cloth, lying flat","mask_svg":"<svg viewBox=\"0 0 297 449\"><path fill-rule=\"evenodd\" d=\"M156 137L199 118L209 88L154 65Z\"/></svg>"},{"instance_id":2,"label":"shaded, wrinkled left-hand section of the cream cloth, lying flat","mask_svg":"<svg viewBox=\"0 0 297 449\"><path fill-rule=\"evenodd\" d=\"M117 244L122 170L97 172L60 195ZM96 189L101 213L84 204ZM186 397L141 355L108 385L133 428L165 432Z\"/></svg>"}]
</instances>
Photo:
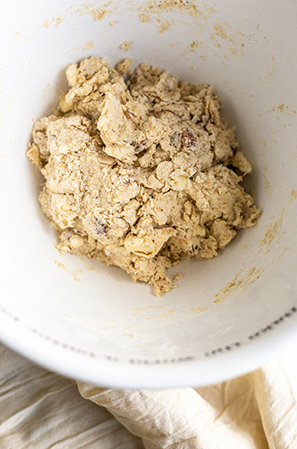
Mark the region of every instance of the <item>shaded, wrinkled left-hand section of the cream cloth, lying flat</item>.
<instances>
[{"instance_id":1,"label":"shaded, wrinkled left-hand section of the cream cloth, lying flat","mask_svg":"<svg viewBox=\"0 0 297 449\"><path fill-rule=\"evenodd\" d=\"M0 449L143 449L76 382L0 344Z\"/></svg>"}]
</instances>

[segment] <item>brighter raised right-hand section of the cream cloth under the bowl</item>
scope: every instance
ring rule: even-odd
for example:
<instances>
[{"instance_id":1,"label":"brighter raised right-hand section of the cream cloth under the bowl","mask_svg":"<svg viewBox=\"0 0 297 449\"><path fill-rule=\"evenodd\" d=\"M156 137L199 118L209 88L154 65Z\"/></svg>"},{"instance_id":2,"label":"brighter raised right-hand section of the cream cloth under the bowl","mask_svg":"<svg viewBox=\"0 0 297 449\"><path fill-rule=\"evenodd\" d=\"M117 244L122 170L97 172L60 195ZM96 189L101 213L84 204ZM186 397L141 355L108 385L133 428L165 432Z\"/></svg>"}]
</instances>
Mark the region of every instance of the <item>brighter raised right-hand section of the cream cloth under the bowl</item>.
<instances>
[{"instance_id":1,"label":"brighter raised right-hand section of the cream cloth under the bowl","mask_svg":"<svg viewBox=\"0 0 297 449\"><path fill-rule=\"evenodd\" d=\"M206 388L119 391L78 382L146 449L296 449L297 350Z\"/></svg>"}]
</instances>

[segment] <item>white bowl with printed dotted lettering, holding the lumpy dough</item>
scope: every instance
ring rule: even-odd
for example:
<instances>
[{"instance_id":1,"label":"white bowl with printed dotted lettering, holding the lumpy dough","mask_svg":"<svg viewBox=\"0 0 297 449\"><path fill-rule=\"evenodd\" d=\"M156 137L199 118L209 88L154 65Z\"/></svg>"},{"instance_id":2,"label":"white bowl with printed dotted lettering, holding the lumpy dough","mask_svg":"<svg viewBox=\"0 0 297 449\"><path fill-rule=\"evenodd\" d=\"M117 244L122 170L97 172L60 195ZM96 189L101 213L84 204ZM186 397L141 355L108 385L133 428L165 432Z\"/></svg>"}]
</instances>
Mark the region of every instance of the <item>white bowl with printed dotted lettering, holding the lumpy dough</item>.
<instances>
[{"instance_id":1,"label":"white bowl with printed dotted lettering, holding the lumpy dough","mask_svg":"<svg viewBox=\"0 0 297 449\"><path fill-rule=\"evenodd\" d=\"M200 386L250 371L297 337L295 0L27 0L1 12L0 338L95 384ZM117 26L110 22L114 21ZM131 41L131 49L119 48ZM118 268L62 255L25 157L68 64L131 57L210 83L253 164L263 209L213 260L184 262L157 298Z\"/></svg>"}]
</instances>

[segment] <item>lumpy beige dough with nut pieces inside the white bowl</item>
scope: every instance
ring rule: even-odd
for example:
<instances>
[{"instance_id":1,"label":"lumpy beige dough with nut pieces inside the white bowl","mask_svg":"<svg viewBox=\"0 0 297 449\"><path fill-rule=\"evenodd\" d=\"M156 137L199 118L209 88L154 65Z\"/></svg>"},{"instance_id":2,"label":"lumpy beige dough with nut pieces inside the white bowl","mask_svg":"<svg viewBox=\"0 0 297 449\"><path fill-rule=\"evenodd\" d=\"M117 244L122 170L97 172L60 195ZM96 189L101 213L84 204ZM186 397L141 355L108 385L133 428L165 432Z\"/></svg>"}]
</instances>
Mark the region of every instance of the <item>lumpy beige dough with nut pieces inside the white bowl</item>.
<instances>
[{"instance_id":1,"label":"lumpy beige dough with nut pieces inside the white bowl","mask_svg":"<svg viewBox=\"0 0 297 449\"><path fill-rule=\"evenodd\" d=\"M260 211L240 185L251 165L213 88L130 65L70 65L70 89L34 124L27 155L45 177L39 199L58 248L161 295L174 287L167 268L216 256Z\"/></svg>"}]
</instances>

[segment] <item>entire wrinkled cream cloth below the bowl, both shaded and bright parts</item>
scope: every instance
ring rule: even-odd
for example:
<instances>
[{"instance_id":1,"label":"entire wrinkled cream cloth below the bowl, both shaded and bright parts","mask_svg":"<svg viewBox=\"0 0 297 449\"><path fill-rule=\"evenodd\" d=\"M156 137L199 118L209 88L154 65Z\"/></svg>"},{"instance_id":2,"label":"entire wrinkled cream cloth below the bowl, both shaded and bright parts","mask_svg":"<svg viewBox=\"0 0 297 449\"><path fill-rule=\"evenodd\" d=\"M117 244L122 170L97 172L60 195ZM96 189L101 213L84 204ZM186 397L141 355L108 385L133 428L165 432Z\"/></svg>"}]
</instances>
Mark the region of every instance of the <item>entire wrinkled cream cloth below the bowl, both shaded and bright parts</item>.
<instances>
[{"instance_id":1,"label":"entire wrinkled cream cloth below the bowl, both shaded and bright parts","mask_svg":"<svg viewBox=\"0 0 297 449\"><path fill-rule=\"evenodd\" d=\"M297 449L297 348L206 388L78 386L0 344L0 449Z\"/></svg>"}]
</instances>

